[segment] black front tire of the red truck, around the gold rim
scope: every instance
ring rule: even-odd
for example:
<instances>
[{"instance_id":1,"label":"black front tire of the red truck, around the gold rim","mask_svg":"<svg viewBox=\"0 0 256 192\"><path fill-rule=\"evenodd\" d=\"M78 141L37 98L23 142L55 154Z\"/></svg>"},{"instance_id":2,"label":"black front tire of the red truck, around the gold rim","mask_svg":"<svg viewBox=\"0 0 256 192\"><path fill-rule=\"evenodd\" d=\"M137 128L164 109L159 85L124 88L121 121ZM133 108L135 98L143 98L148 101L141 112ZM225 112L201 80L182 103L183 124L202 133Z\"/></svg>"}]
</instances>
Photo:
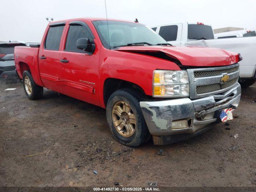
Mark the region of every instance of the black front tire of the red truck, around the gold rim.
<instances>
[{"instance_id":1,"label":"black front tire of the red truck, around the gold rim","mask_svg":"<svg viewBox=\"0 0 256 192\"><path fill-rule=\"evenodd\" d=\"M120 143L130 146L137 147L142 144L145 144L150 139L151 135L148 131L144 116L140 109L140 97L139 93L136 90L127 88L120 89L114 92L110 98L108 99L107 107L106 107L106 116L108 126L114 138L118 140ZM132 109L132 112L136 116L136 128L134 134L130 137L124 137L116 130L116 127L112 120L112 108L114 104L118 101L126 102Z\"/></svg>"}]
</instances>

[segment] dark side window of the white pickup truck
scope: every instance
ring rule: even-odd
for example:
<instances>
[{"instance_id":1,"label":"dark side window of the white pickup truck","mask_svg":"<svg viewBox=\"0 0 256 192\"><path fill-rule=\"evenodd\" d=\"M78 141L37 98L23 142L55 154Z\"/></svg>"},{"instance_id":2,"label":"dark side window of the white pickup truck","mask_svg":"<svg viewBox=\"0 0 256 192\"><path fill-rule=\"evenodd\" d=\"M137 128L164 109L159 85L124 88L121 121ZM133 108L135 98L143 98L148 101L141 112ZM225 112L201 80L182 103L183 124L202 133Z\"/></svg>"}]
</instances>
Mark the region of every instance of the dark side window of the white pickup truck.
<instances>
[{"instance_id":1,"label":"dark side window of the white pickup truck","mask_svg":"<svg viewBox=\"0 0 256 192\"><path fill-rule=\"evenodd\" d=\"M177 25L169 25L160 27L159 35L166 41L176 41L178 33Z\"/></svg>"}]
</instances>

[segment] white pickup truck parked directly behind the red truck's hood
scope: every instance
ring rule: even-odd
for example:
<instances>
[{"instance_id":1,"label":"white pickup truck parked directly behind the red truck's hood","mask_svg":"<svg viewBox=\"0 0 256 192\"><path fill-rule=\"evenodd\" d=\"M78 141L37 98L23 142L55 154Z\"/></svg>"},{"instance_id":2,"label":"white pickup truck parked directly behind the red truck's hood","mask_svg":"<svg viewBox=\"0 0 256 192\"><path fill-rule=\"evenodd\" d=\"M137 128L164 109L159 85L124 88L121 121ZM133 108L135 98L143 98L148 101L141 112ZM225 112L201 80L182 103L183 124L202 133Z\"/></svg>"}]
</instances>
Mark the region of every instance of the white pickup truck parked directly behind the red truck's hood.
<instances>
[{"instance_id":1,"label":"white pickup truck parked directly behind the red truck's hood","mask_svg":"<svg viewBox=\"0 0 256 192\"><path fill-rule=\"evenodd\" d=\"M178 46L206 46L240 53L239 82L248 87L256 82L256 36L214 39L212 26L202 22L180 22L152 26L168 43Z\"/></svg>"}]
</instances>

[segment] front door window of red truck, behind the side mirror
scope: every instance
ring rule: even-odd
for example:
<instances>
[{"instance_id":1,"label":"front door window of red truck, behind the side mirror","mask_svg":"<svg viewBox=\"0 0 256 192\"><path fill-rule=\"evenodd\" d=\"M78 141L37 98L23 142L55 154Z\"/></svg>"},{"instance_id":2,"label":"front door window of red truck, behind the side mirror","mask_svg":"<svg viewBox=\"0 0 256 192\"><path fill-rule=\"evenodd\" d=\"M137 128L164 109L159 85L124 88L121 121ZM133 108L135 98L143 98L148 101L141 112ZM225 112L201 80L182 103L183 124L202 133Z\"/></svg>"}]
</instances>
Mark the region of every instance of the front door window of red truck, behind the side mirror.
<instances>
[{"instance_id":1,"label":"front door window of red truck, behind the side mirror","mask_svg":"<svg viewBox=\"0 0 256 192\"><path fill-rule=\"evenodd\" d=\"M82 25L70 25L70 28L68 30L68 37L66 40L66 47L65 51L70 52L85 52L81 49L78 49L76 47L76 41L79 38L88 38L91 42L93 42L93 38L91 36L91 32L89 31L89 28Z\"/></svg>"}]
</instances>

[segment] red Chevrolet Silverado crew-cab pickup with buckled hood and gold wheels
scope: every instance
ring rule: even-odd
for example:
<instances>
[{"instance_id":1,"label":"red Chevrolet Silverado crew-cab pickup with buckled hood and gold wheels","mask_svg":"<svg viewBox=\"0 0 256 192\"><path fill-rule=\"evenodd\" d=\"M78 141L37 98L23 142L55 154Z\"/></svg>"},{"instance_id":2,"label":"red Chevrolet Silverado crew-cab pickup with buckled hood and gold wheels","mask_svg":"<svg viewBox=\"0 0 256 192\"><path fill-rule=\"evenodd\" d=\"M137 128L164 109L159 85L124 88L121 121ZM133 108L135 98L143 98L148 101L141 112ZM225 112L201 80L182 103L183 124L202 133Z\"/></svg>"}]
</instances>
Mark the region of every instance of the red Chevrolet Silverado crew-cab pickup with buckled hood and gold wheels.
<instances>
[{"instance_id":1,"label":"red Chevrolet Silverado crew-cab pickup with buckled hood and gold wheels","mask_svg":"<svg viewBox=\"0 0 256 192\"><path fill-rule=\"evenodd\" d=\"M106 108L110 131L128 146L190 138L232 119L240 102L239 54L171 46L136 22L51 22L40 45L14 56L29 99L46 87Z\"/></svg>"}]
</instances>

